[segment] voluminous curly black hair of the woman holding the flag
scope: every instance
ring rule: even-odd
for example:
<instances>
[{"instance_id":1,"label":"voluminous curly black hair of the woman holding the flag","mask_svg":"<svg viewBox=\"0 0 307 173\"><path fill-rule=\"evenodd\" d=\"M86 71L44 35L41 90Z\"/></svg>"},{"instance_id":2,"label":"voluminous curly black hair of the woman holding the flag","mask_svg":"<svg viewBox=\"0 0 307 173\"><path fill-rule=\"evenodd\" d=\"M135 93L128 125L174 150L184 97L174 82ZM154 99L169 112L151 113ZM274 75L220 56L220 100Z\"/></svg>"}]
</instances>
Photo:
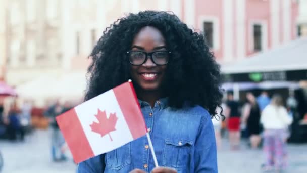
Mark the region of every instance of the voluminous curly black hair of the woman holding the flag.
<instances>
[{"instance_id":1,"label":"voluminous curly black hair of the woman holding the flag","mask_svg":"<svg viewBox=\"0 0 307 173\"><path fill-rule=\"evenodd\" d=\"M193 32L170 12L143 11L119 18L104 31L90 54L88 89L85 100L126 82L130 77L126 51L135 35L145 26L160 30L171 59L167 66L169 106L184 102L200 105L213 116L221 105L220 66L206 44L204 35Z\"/></svg>"}]
</instances>

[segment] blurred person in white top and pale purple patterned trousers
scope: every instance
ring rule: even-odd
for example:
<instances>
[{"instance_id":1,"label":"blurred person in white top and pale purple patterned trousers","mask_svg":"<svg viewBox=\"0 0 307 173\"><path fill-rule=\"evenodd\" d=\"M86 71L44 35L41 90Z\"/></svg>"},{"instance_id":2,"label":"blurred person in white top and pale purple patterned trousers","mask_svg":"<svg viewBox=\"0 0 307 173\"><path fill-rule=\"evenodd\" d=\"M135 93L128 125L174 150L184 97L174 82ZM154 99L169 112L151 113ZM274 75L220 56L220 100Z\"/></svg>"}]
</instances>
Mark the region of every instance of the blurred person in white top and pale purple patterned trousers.
<instances>
[{"instance_id":1,"label":"blurred person in white top and pale purple patterned trousers","mask_svg":"<svg viewBox=\"0 0 307 173\"><path fill-rule=\"evenodd\" d=\"M282 170L286 168L286 141L288 126L292 123L282 97L274 95L271 103L265 107L260 122L264 127L264 152L266 163L264 169Z\"/></svg>"}]
</instances>

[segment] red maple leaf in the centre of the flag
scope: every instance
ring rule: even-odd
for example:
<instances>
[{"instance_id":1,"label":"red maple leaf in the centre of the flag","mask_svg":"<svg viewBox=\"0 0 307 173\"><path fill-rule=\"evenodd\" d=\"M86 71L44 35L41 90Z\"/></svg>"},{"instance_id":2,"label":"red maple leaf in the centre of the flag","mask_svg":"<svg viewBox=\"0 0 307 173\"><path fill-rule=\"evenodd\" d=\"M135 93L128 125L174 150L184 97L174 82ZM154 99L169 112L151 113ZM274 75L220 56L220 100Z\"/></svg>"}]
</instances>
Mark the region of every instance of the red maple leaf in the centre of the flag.
<instances>
[{"instance_id":1,"label":"red maple leaf in the centre of the flag","mask_svg":"<svg viewBox=\"0 0 307 173\"><path fill-rule=\"evenodd\" d=\"M89 125L93 132L98 133L101 135L101 137L105 135L109 135L111 141L111 135L110 132L116 131L115 124L117 122L117 116L116 113L111 113L109 119L107 118L106 111L101 112L101 110L98 109L97 115L95 115L99 123L93 122L91 125Z\"/></svg>"}]
</instances>

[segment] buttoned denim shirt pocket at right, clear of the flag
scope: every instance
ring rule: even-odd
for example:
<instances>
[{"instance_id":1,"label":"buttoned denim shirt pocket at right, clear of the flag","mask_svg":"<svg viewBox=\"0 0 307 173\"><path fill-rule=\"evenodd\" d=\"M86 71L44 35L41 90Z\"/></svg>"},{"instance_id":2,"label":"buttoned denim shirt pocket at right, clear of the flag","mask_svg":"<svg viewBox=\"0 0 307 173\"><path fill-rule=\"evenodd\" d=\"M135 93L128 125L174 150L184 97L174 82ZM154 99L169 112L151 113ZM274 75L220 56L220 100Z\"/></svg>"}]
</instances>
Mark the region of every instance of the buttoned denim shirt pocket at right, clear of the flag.
<instances>
[{"instance_id":1,"label":"buttoned denim shirt pocket at right, clear of the flag","mask_svg":"<svg viewBox=\"0 0 307 173\"><path fill-rule=\"evenodd\" d=\"M163 151L163 166L176 170L186 167L193 142L183 139L166 139Z\"/></svg>"}]
</instances>

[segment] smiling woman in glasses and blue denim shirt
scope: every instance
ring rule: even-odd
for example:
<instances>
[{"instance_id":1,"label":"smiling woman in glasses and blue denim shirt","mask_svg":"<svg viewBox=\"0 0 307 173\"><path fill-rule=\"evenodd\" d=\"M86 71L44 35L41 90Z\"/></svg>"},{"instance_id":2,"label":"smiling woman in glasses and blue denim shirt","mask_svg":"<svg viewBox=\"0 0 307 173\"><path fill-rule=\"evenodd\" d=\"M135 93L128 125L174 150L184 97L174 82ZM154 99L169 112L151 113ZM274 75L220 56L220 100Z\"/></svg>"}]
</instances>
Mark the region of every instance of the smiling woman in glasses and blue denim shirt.
<instances>
[{"instance_id":1,"label":"smiling woman in glasses and blue denim shirt","mask_svg":"<svg viewBox=\"0 0 307 173\"><path fill-rule=\"evenodd\" d=\"M211 117L222 93L209 49L203 35L167 12L130 14L108 27L90 55L85 99L132 79L162 167L154 169L141 137L81 162L77 172L217 172Z\"/></svg>"}]
</instances>

